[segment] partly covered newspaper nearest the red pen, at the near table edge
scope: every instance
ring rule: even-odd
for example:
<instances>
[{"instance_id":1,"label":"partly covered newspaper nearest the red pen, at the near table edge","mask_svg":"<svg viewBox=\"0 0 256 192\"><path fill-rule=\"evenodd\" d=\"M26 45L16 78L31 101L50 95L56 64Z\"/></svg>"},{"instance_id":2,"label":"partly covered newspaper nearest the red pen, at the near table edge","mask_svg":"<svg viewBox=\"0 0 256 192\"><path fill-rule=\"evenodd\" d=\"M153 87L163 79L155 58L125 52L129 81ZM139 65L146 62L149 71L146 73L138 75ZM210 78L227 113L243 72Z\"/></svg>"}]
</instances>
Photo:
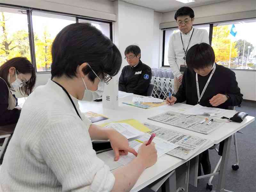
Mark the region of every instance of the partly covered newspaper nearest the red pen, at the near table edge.
<instances>
[{"instance_id":1,"label":"partly covered newspaper nearest the red pen, at the near table edge","mask_svg":"<svg viewBox=\"0 0 256 192\"><path fill-rule=\"evenodd\" d=\"M211 142L211 140L195 137L163 127L158 127L156 125L148 123L144 123L144 125L151 129L149 133L156 133L159 138L177 144L179 147L172 149L171 151L167 152L167 154L181 159L187 160L202 146L208 142Z\"/></svg>"}]
</instances>

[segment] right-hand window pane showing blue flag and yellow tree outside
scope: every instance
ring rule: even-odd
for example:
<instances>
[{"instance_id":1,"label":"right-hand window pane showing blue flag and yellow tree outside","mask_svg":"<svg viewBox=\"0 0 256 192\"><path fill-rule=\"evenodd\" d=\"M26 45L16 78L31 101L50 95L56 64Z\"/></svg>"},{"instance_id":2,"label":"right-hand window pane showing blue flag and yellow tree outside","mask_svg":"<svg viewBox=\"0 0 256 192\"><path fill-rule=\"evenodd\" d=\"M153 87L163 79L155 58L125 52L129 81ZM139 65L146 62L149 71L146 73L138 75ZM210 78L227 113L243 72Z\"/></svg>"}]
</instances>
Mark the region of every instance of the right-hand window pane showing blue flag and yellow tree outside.
<instances>
[{"instance_id":1,"label":"right-hand window pane showing blue flag and yellow tree outside","mask_svg":"<svg viewBox=\"0 0 256 192\"><path fill-rule=\"evenodd\" d=\"M212 48L216 63L231 69L255 70L255 26L256 19L214 24Z\"/></svg>"}]
</instances>

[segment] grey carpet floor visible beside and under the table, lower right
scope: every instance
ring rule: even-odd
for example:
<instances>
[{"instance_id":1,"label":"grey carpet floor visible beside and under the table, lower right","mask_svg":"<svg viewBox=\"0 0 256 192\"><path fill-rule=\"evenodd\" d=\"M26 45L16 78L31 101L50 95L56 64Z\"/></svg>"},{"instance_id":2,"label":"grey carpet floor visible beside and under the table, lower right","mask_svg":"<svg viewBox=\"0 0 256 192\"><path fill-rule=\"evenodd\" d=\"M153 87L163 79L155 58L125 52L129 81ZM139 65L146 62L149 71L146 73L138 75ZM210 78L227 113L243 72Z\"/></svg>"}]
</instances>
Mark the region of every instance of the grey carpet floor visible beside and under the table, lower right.
<instances>
[{"instance_id":1,"label":"grey carpet floor visible beside and under the table, lower right","mask_svg":"<svg viewBox=\"0 0 256 192\"><path fill-rule=\"evenodd\" d=\"M237 111L243 111L249 116L256 116L256 102L243 101L241 107L236 107ZM236 153L234 140L232 139L230 147L230 156L228 158L228 167L226 168L226 185L225 189L233 192L256 192L256 122L244 127L241 133L236 133L239 169L233 171L232 165L236 163ZM215 150L209 150L212 170L216 166L219 155ZM206 183L209 178L198 181L197 188L189 185L189 192L205 192ZM218 176L212 180L213 189L216 189Z\"/></svg>"}]
</instances>

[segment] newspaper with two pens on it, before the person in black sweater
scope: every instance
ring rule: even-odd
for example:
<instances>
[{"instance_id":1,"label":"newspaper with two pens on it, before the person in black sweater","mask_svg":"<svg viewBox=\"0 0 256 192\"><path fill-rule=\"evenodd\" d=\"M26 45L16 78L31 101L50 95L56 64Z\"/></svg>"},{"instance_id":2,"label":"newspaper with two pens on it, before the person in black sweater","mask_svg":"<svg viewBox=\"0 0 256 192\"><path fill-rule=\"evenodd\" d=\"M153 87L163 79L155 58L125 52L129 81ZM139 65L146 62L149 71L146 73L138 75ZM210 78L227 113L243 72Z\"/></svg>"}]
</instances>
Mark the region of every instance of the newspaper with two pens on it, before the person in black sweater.
<instances>
[{"instance_id":1,"label":"newspaper with two pens on it, before the person in black sweater","mask_svg":"<svg viewBox=\"0 0 256 192\"><path fill-rule=\"evenodd\" d=\"M201 116L184 115L173 111L168 111L160 115L149 117L148 119L206 135L225 124L219 119L213 119L211 124L208 125L211 119ZM202 123L202 121L204 121L204 123Z\"/></svg>"}]
</instances>

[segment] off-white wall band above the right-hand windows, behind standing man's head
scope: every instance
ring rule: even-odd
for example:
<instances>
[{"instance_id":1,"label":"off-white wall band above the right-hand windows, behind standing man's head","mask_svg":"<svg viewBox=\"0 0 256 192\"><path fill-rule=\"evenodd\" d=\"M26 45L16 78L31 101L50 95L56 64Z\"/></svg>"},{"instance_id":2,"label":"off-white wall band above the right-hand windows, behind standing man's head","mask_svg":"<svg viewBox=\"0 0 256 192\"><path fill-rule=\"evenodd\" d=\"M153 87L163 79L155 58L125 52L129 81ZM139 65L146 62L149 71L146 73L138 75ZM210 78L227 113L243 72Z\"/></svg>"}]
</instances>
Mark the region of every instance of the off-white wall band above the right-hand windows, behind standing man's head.
<instances>
[{"instance_id":1,"label":"off-white wall band above the right-hand windows, behind standing man's head","mask_svg":"<svg viewBox=\"0 0 256 192\"><path fill-rule=\"evenodd\" d=\"M192 8L196 18L209 17L214 15L223 15L228 13L251 11L256 9L255 0L230 0L215 4L203 5ZM162 23L175 21L176 11L163 13ZM225 18L223 18L225 20Z\"/></svg>"}]
</instances>

